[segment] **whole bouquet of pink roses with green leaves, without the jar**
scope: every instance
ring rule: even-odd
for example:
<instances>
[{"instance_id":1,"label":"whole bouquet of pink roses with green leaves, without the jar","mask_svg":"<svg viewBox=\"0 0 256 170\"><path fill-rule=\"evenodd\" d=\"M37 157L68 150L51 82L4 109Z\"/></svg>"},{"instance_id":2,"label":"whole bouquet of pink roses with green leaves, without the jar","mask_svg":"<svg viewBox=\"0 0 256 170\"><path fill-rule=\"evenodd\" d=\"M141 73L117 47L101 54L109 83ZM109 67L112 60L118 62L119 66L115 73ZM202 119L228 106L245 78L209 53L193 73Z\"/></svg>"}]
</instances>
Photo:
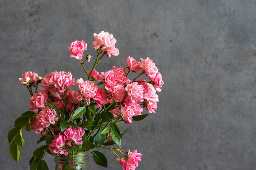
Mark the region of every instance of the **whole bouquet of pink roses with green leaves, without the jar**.
<instances>
[{"instance_id":1,"label":"whole bouquet of pink roses with green leaves, without the jar","mask_svg":"<svg viewBox=\"0 0 256 170\"><path fill-rule=\"evenodd\" d=\"M14 128L8 133L9 153L18 162L18 148L24 145L22 130L35 130L41 135L37 143L45 141L45 144L34 151L29 161L31 170L48 169L43 160L46 152L59 156L87 150L97 164L107 167L103 153L92 150L97 147L110 149L117 156L116 160L124 165L123 170L134 170L141 161L137 150L121 150L121 137L125 132L120 133L119 122L131 124L155 113L156 92L160 92L164 84L162 75L148 57L140 62L128 57L125 67L112 66L107 72L97 72L95 68L103 56L117 56L119 50L110 33L94 33L94 39L92 45L97 57L90 70L84 66L92 59L91 55L83 57L87 50L85 41L74 41L68 48L70 57L80 61L87 80L75 80L70 72L63 71L52 72L44 78L28 71L20 78L20 83L31 94L30 106L29 111L16 119ZM128 78L131 73L137 74L132 80ZM43 90L38 92L39 84ZM71 89L74 86L76 91ZM35 88L34 92L32 88ZM148 114L141 114L144 108ZM117 146L109 147L114 144Z\"/></svg>"}]
</instances>

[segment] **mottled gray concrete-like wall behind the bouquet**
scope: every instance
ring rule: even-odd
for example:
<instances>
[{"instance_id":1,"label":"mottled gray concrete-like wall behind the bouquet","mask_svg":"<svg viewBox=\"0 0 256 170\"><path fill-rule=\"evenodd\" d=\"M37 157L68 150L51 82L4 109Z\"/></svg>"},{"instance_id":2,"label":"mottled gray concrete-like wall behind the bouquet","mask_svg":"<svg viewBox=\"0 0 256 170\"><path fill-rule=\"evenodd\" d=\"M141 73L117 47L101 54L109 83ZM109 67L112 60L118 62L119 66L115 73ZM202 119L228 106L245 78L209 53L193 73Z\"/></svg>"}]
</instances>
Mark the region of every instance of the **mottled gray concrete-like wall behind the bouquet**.
<instances>
[{"instance_id":1,"label":"mottled gray concrete-like wall behind the bouquet","mask_svg":"<svg viewBox=\"0 0 256 170\"><path fill-rule=\"evenodd\" d=\"M0 169L28 170L39 136L25 133L19 163L8 153L7 133L29 107L18 78L83 70L69 58L74 40L110 32L118 57L150 57L162 73L157 113L129 127L122 148L142 153L138 170L255 170L255 0L0 0ZM108 169L121 170L103 150ZM47 156L54 169L53 157ZM95 166L90 155L90 170Z\"/></svg>"}]
</instances>

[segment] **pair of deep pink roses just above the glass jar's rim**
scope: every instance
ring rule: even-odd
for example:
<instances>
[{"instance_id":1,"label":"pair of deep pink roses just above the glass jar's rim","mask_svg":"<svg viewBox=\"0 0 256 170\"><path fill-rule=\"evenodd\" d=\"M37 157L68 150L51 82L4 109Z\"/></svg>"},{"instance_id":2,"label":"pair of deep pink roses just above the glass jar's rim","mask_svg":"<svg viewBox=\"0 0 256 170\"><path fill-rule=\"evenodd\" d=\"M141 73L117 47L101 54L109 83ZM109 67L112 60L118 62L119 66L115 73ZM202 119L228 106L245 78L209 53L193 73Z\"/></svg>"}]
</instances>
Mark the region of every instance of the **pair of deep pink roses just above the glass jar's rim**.
<instances>
[{"instance_id":1,"label":"pair of deep pink roses just above the glass jar's rim","mask_svg":"<svg viewBox=\"0 0 256 170\"><path fill-rule=\"evenodd\" d=\"M49 144L49 150L51 153L56 153L58 156L67 155L67 148L74 145L83 144L82 136L84 135L85 130L81 127L77 129L70 126L63 133L58 133L52 140L52 143Z\"/></svg>"}]
</instances>

